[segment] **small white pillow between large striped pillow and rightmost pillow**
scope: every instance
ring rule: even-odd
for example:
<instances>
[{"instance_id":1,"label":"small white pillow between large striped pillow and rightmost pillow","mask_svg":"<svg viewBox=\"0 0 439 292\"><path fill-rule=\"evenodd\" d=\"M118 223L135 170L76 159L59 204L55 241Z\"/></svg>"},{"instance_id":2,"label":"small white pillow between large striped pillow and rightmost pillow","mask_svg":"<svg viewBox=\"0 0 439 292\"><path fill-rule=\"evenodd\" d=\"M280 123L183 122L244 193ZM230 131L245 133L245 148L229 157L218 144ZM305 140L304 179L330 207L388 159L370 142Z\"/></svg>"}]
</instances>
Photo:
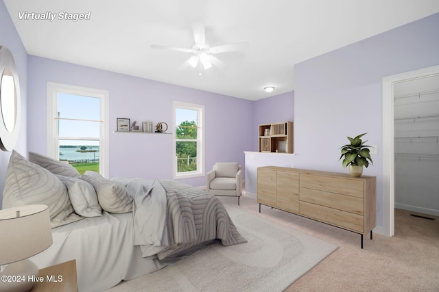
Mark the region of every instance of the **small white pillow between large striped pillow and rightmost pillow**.
<instances>
[{"instance_id":1,"label":"small white pillow between large striped pillow and rightmost pillow","mask_svg":"<svg viewBox=\"0 0 439 292\"><path fill-rule=\"evenodd\" d=\"M97 202L97 194L93 185L80 178L60 175L58 178L67 187L71 204L76 213L84 217L102 216L102 208Z\"/></svg>"}]
</instances>

